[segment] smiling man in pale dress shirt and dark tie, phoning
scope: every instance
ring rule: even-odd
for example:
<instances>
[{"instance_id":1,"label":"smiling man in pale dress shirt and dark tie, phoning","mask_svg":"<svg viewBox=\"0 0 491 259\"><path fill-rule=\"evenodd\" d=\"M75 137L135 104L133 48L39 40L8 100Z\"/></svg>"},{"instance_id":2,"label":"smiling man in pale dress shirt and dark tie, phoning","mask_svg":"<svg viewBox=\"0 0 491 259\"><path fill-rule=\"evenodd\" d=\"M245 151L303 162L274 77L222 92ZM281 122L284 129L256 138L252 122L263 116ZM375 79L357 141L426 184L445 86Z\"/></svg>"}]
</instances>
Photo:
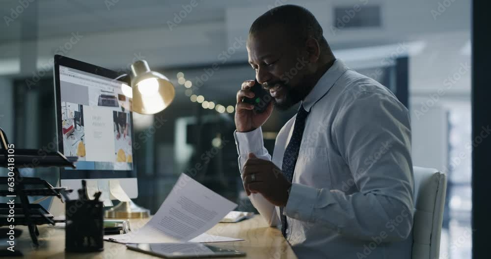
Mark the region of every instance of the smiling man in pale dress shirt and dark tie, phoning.
<instances>
[{"instance_id":1,"label":"smiling man in pale dress shirt and dark tie, phoning","mask_svg":"<svg viewBox=\"0 0 491 259\"><path fill-rule=\"evenodd\" d=\"M256 113L237 93L234 133L244 188L299 258L411 258L414 180L408 109L331 52L306 9L283 5L252 24L249 63L273 102ZM273 157L261 125L301 102Z\"/></svg>"}]
</instances>

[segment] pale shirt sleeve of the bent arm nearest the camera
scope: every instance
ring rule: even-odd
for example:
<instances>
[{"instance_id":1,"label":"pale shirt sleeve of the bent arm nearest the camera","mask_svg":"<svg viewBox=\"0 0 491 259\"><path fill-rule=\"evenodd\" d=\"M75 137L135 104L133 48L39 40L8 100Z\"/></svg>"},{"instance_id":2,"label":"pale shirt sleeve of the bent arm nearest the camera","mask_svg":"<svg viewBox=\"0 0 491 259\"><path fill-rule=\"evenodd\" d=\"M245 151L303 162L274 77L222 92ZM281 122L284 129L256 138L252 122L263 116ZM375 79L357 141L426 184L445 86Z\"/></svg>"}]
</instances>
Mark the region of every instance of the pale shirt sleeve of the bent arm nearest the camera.
<instances>
[{"instance_id":1,"label":"pale shirt sleeve of the bent arm nearest the camera","mask_svg":"<svg viewBox=\"0 0 491 259\"><path fill-rule=\"evenodd\" d=\"M388 94L358 92L332 127L333 143L353 176L346 184L357 191L294 183L284 213L356 239L406 239L414 208L408 110Z\"/></svg>"}]
</instances>

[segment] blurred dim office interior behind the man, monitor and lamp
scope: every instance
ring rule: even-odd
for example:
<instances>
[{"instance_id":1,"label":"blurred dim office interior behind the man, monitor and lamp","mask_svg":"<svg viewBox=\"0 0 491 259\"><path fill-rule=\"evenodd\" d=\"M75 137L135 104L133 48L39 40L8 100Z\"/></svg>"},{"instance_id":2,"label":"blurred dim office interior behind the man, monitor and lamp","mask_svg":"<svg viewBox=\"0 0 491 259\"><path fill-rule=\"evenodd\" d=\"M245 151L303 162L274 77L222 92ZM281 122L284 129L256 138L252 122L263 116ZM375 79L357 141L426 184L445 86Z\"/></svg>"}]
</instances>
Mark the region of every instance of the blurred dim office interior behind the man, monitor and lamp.
<instances>
[{"instance_id":1,"label":"blurred dim office interior behind the man, monitor and lamp","mask_svg":"<svg viewBox=\"0 0 491 259\"><path fill-rule=\"evenodd\" d=\"M80 33L80 42L66 56L126 72L135 58L144 58L176 87L176 99L166 110L150 117L134 116L134 134L148 137L136 150L139 192L134 201L155 212L180 173L189 173L196 163L203 162L202 154L222 146L193 177L238 202L239 210L252 211L239 177L233 113L218 113L193 102L189 88L178 82L177 74L184 73L186 80L196 86L196 78L205 74L204 69L218 62L219 69L192 94L202 95L214 105L235 106L240 84L252 79L254 71L247 64L245 46L234 49L224 63L218 55L229 50L235 38L246 36L254 17L281 2L312 10L334 54L387 86L409 108L414 165L448 174L440 254L450 259L469 258L473 240L462 237L472 231L470 180L471 166L476 165L470 159L455 163L455 158L460 152L470 154L465 145L472 140L470 73L459 73L471 62L470 1L453 1L441 12L441 0L380 0L370 2L344 25L338 22L344 11L365 1L207 1L172 29L167 21L179 14L186 4L183 1L119 0L109 7L100 0L33 1L18 19L8 26L0 25L0 126L7 129L17 147L40 148L53 141L52 68L34 85L28 86L26 80L44 71L43 65L72 33ZM0 14L10 15L17 5L16 0L0 2ZM483 6L479 10L483 20L474 25L484 26L490 9ZM476 35L485 37L487 33ZM479 42L480 46L489 46L484 39ZM458 80L449 81L457 74ZM444 92L438 95L440 89ZM432 99L435 94L436 101ZM486 92L474 94L487 96ZM479 111L483 107L479 106ZM275 134L296 108L274 112L264 125L264 141L270 152ZM163 121L162 127L154 132L152 125L158 121ZM482 171L486 167L479 168ZM23 173L52 184L59 177L55 169L27 169Z\"/></svg>"}]
</instances>

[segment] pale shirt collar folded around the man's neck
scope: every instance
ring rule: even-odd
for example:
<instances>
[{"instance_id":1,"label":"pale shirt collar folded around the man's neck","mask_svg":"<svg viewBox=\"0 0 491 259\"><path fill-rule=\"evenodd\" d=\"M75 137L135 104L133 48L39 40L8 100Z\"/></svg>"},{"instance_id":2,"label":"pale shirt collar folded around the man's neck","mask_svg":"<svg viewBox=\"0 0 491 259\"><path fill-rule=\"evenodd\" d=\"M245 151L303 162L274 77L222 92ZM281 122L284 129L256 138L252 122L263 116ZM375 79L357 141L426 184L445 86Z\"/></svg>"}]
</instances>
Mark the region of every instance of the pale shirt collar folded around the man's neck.
<instances>
[{"instance_id":1,"label":"pale shirt collar folded around the man's neck","mask_svg":"<svg viewBox=\"0 0 491 259\"><path fill-rule=\"evenodd\" d=\"M303 109L310 112L310 108L319 101L327 91L334 85L338 78L346 72L349 68L340 59L336 59L326 73L317 81L314 88L307 94L305 99L302 101Z\"/></svg>"}]
</instances>

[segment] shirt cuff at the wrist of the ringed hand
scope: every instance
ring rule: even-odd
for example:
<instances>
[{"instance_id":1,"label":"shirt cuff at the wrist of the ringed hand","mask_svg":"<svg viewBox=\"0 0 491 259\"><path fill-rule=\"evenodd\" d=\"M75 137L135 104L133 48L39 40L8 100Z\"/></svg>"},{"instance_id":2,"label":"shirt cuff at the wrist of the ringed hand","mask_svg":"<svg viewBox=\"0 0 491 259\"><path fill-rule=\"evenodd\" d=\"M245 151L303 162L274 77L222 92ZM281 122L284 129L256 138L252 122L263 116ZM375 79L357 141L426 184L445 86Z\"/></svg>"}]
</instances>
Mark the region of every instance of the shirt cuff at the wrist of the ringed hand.
<instances>
[{"instance_id":1,"label":"shirt cuff at the wrist of the ringed hand","mask_svg":"<svg viewBox=\"0 0 491 259\"><path fill-rule=\"evenodd\" d=\"M290 196L286 202L283 214L305 222L312 222L314 204L317 202L319 189L299 183L292 183Z\"/></svg>"}]
</instances>

